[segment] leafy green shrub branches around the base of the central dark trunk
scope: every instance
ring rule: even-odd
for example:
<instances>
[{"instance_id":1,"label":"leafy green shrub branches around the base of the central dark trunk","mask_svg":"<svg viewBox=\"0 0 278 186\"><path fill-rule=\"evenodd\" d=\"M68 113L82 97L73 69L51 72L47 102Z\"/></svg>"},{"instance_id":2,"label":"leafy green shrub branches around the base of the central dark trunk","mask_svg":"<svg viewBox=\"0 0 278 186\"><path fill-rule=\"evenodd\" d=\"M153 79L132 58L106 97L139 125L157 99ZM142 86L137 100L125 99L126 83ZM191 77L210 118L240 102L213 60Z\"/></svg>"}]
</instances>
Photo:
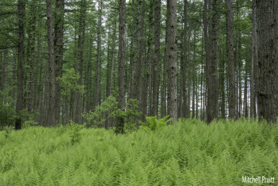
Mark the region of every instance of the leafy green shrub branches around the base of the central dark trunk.
<instances>
[{"instance_id":1,"label":"leafy green shrub branches around the base of the central dark trunk","mask_svg":"<svg viewBox=\"0 0 278 186\"><path fill-rule=\"evenodd\" d=\"M105 122L108 118L124 118L126 128L131 129L134 125L134 119L139 116L141 112L138 111L138 100L130 99L126 102L124 109L117 108L117 100L113 96L109 96L101 102L101 104L95 107L95 111L90 111L83 117L88 121L88 126L90 127L104 127Z\"/></svg>"}]
</instances>

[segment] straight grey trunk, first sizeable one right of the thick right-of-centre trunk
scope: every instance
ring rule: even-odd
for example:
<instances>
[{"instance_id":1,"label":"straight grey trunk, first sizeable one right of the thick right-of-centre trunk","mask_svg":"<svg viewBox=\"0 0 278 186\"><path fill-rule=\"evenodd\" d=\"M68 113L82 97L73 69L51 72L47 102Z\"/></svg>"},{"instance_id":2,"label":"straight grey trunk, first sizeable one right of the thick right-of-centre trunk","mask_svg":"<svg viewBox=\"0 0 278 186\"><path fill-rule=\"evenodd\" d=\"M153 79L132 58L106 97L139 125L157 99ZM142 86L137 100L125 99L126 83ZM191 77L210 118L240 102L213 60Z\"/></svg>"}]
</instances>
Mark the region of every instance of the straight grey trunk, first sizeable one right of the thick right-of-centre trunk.
<instances>
[{"instance_id":1,"label":"straight grey trunk, first sizeable one right of the thick right-of-centre trunk","mask_svg":"<svg viewBox=\"0 0 278 186\"><path fill-rule=\"evenodd\" d=\"M234 10L233 0L227 0L227 53L228 53L228 78L229 78L229 118L236 118L236 87L234 72ZM224 67L223 67L224 69ZM224 83L224 82L223 82Z\"/></svg>"}]
</instances>

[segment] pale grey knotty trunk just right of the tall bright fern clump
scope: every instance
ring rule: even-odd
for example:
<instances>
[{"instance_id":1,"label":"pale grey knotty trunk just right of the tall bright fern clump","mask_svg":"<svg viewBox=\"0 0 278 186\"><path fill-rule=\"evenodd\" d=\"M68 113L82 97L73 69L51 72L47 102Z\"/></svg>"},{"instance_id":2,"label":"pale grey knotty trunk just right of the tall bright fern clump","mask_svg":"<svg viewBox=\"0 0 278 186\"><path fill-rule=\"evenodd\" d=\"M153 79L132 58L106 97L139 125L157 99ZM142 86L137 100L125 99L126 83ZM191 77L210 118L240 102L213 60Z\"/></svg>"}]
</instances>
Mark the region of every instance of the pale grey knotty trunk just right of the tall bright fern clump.
<instances>
[{"instance_id":1,"label":"pale grey knotty trunk just right of the tall bright fern clump","mask_svg":"<svg viewBox=\"0 0 278 186\"><path fill-rule=\"evenodd\" d=\"M177 1L167 0L167 112L177 121Z\"/></svg>"}]
</instances>

